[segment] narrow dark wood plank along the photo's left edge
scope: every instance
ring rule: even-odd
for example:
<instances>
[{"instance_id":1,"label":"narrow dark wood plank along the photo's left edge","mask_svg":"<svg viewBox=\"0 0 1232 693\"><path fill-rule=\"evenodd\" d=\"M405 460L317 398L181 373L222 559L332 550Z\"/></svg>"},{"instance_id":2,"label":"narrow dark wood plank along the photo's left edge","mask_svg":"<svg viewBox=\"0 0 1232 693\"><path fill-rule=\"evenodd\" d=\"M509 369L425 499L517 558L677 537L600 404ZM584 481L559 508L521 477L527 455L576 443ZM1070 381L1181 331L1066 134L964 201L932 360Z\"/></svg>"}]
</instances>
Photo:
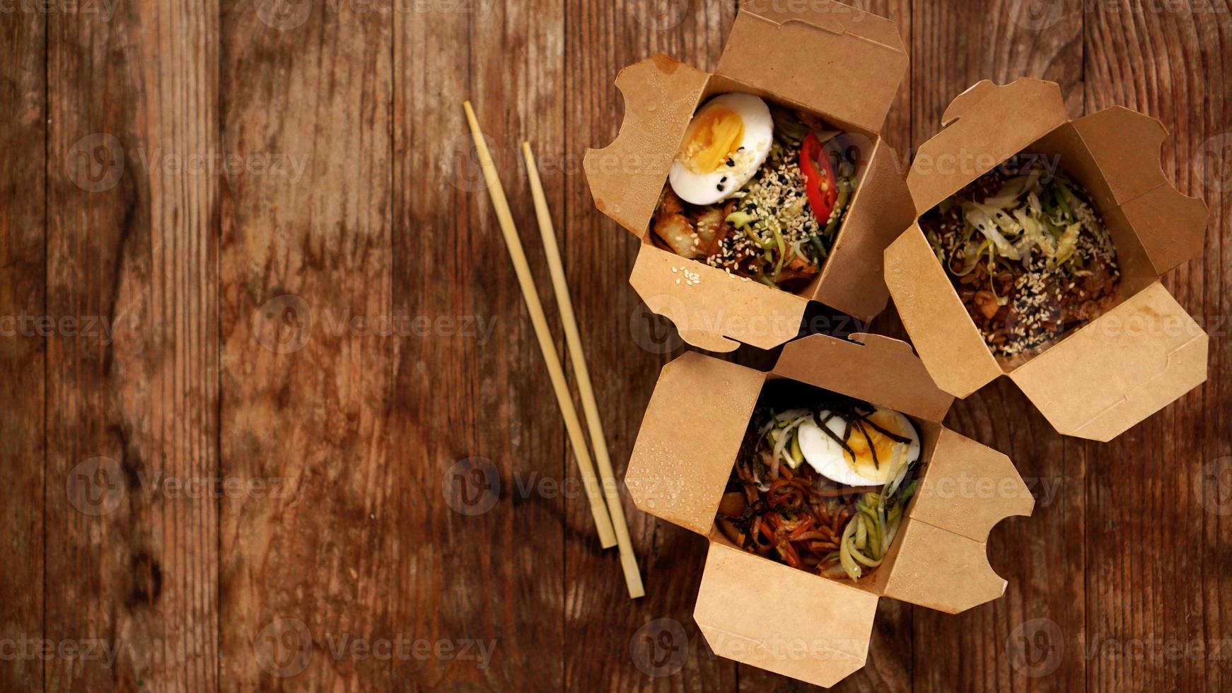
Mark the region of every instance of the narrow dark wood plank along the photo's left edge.
<instances>
[{"instance_id":1,"label":"narrow dark wood plank along the photo's left edge","mask_svg":"<svg viewBox=\"0 0 1232 693\"><path fill-rule=\"evenodd\" d=\"M46 337L27 321L44 313L46 17L0 17L0 640L43 636L43 403ZM43 687L43 662L0 665L0 688Z\"/></svg>"}]
</instances>

